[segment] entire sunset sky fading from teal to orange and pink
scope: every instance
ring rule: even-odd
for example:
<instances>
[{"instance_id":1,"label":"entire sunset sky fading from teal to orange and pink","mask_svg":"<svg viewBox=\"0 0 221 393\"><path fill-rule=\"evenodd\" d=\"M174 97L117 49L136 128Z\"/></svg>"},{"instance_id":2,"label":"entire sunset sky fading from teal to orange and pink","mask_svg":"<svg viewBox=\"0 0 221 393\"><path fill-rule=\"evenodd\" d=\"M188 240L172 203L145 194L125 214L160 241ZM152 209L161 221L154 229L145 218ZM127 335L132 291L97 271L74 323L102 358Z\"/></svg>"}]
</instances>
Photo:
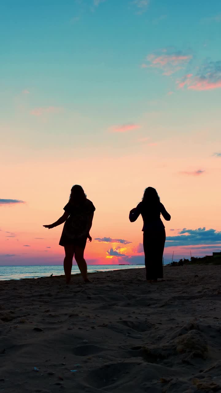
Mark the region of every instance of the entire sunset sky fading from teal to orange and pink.
<instances>
[{"instance_id":1,"label":"entire sunset sky fading from teal to orange and pink","mask_svg":"<svg viewBox=\"0 0 221 393\"><path fill-rule=\"evenodd\" d=\"M3 0L0 35L0 264L63 262L42 225L73 184L96 207L88 263L144 262L128 216L149 185L165 260L221 249L219 0Z\"/></svg>"}]
</instances>

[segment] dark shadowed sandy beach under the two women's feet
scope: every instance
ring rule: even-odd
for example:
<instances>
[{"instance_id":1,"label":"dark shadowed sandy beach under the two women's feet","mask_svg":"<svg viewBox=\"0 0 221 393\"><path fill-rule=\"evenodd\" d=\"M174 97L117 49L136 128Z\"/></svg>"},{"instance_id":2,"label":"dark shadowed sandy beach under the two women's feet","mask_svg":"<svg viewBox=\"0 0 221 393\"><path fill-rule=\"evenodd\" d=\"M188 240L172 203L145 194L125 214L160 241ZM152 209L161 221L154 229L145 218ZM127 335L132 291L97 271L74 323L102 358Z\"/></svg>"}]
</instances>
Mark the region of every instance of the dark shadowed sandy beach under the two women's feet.
<instances>
[{"instance_id":1,"label":"dark shadowed sandy beach under the two women's feet","mask_svg":"<svg viewBox=\"0 0 221 393\"><path fill-rule=\"evenodd\" d=\"M0 283L0 391L221 391L221 266Z\"/></svg>"}]
</instances>

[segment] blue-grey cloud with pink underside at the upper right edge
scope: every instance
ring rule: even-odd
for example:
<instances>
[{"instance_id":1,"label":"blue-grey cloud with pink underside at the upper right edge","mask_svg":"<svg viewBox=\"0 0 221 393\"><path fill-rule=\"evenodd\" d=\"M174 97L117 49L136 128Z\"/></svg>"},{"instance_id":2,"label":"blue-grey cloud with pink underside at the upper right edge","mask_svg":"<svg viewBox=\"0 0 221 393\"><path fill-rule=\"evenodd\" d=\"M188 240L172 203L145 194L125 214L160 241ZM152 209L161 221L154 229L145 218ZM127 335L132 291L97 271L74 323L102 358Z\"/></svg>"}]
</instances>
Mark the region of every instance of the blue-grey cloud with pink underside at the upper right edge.
<instances>
[{"instance_id":1,"label":"blue-grey cloud with pink underside at the upper right edge","mask_svg":"<svg viewBox=\"0 0 221 393\"><path fill-rule=\"evenodd\" d=\"M193 73L185 75L177 81L179 88L187 87L188 90L213 90L221 88L221 61L210 61L203 64Z\"/></svg>"}]
</instances>

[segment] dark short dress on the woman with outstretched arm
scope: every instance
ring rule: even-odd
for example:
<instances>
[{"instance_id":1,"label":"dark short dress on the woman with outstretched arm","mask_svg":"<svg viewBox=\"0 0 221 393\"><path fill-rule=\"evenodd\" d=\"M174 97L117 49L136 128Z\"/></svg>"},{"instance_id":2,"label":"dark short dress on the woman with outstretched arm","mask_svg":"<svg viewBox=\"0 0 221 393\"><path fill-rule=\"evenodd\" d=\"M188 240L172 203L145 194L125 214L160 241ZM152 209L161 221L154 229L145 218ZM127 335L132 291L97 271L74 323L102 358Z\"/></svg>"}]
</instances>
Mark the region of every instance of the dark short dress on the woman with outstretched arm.
<instances>
[{"instance_id":1,"label":"dark short dress on the woman with outstretched arm","mask_svg":"<svg viewBox=\"0 0 221 393\"><path fill-rule=\"evenodd\" d=\"M64 247L72 244L85 248L90 217L95 211L93 203L87 198L79 205L71 204L69 201L64 206L64 211L69 213L69 217L64 223L59 245Z\"/></svg>"}]
</instances>

